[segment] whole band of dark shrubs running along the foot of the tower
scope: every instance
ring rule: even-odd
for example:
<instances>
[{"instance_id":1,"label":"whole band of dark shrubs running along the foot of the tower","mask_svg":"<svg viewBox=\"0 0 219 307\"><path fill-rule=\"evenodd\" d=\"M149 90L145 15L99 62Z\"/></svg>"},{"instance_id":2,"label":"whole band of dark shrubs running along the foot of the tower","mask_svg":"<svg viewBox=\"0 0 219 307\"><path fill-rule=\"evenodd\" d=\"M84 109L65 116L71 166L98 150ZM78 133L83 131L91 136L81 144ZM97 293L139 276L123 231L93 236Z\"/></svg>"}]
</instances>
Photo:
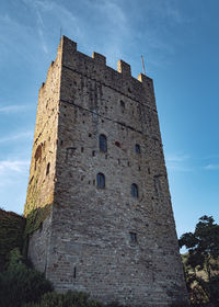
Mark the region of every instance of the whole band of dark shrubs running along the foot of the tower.
<instances>
[{"instance_id":1,"label":"whole band of dark shrubs running along the foot of the tower","mask_svg":"<svg viewBox=\"0 0 219 307\"><path fill-rule=\"evenodd\" d=\"M82 292L56 293L44 274L25 262L19 249L10 252L8 269L0 273L0 307L128 307L117 303L105 305ZM188 305L180 302L170 307Z\"/></svg>"}]
</instances>

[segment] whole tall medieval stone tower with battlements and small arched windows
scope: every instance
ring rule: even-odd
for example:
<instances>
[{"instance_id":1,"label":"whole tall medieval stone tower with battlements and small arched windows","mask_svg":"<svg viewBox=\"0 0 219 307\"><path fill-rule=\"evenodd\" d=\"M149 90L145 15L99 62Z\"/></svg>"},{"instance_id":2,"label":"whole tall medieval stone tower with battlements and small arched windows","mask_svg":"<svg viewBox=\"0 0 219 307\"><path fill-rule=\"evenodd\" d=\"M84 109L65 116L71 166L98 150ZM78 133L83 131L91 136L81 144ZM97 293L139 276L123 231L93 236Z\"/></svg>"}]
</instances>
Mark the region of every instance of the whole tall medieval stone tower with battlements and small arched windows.
<instances>
[{"instance_id":1,"label":"whole tall medieval stone tower with battlements and small arched windows","mask_svg":"<svg viewBox=\"0 0 219 307\"><path fill-rule=\"evenodd\" d=\"M186 298L150 78L61 38L38 94L25 216L28 257L56 289Z\"/></svg>"}]
</instances>

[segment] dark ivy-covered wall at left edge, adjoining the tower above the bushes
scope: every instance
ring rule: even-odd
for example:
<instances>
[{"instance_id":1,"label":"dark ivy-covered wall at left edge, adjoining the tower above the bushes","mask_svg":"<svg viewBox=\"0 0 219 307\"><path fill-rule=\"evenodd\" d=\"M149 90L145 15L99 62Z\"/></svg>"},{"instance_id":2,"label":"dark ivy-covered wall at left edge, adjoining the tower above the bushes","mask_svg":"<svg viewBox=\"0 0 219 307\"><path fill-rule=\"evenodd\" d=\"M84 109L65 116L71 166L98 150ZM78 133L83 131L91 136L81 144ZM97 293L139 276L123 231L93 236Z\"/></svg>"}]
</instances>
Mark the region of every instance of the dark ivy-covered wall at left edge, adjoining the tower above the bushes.
<instances>
[{"instance_id":1,"label":"dark ivy-covered wall at left edge, adjoining the tower above the bushes","mask_svg":"<svg viewBox=\"0 0 219 307\"><path fill-rule=\"evenodd\" d=\"M22 250L24 228L24 217L0 208L0 271L5 269L10 250Z\"/></svg>"}]
</instances>

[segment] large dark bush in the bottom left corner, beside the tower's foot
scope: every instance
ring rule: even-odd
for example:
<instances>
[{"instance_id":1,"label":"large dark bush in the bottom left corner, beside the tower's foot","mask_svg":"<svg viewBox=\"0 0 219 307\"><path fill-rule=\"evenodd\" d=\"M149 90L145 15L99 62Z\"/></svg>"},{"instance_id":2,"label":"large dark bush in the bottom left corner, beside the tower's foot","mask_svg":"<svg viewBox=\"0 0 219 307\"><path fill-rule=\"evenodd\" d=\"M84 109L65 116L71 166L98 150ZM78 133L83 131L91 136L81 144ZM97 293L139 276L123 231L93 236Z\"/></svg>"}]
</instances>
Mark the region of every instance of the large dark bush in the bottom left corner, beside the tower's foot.
<instances>
[{"instance_id":1,"label":"large dark bush in the bottom left corner, beside the tower's foot","mask_svg":"<svg viewBox=\"0 0 219 307\"><path fill-rule=\"evenodd\" d=\"M0 307L37 303L43 294L51 291L51 283L24 263L19 249L11 251L8 270L0 273Z\"/></svg>"}]
</instances>

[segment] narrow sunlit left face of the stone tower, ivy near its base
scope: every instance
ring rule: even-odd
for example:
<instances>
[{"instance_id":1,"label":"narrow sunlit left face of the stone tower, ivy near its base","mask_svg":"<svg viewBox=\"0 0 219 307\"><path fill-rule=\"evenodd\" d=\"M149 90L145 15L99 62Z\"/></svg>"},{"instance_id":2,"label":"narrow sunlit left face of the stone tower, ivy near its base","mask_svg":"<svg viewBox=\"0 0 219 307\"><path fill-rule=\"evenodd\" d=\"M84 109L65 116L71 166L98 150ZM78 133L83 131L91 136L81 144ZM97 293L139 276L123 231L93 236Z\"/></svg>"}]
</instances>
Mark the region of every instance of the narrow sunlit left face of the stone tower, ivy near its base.
<instances>
[{"instance_id":1,"label":"narrow sunlit left face of the stone tower, ivy near its base","mask_svg":"<svg viewBox=\"0 0 219 307\"><path fill-rule=\"evenodd\" d=\"M38 93L37 115L24 214L28 258L45 271L49 249L56 181L57 128L60 96L62 46L47 72Z\"/></svg>"}]
</instances>

